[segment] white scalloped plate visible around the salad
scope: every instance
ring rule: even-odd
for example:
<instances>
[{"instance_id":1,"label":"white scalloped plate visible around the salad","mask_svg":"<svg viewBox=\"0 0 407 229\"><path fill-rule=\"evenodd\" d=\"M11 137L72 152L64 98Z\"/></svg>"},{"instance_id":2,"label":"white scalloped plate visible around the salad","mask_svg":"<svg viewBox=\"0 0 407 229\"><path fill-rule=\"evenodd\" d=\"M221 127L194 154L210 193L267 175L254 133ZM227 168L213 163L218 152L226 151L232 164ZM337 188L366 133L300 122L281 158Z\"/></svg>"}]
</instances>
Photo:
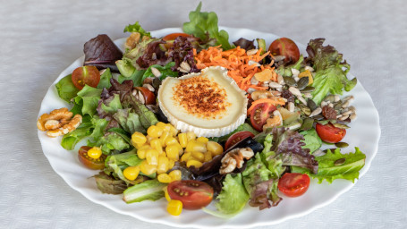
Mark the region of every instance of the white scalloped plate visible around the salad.
<instances>
[{"instance_id":1,"label":"white scalloped plate visible around the salad","mask_svg":"<svg viewBox=\"0 0 407 229\"><path fill-rule=\"evenodd\" d=\"M221 28L228 31L230 40L238 38L265 38L267 44L278 38L276 35L253 30ZM164 29L151 32L153 36L162 37L172 32L181 32L181 29ZM125 38L118 39L115 43L123 47ZM302 53L305 53L305 46L300 45ZM81 66L83 56L71 64L49 87L47 95L42 101L39 114L49 113L55 108L66 107L66 104L58 97L55 89L55 83L61 80L65 75L71 73L75 68ZM352 78L352 76L350 77ZM355 97L353 106L357 108L358 119L351 124L352 128L347 131L343 141L350 144L343 152L354 150L353 147L359 147L366 154L366 165L360 171L360 177L369 169L369 166L377 153L377 145L380 137L380 127L378 123L377 109L360 82L352 89L352 95ZM48 138L44 132L38 131L38 138L41 142L44 154L49 163L65 182L72 189L81 192L89 200L110 208L115 212L133 216L143 221L172 225L177 227L227 227L227 228L247 228L259 225L274 225L284 220L304 216L316 208L321 208L338 198L343 192L352 188L354 183L345 180L335 180L332 184L323 182L318 184L314 179L311 181L309 191L299 198L284 198L276 208L269 208L259 211L258 208L247 206L242 213L232 219L221 219L210 216L203 211L183 210L181 216L170 216L166 210L166 200L160 199L156 202L143 201L140 203L126 204L121 195L102 194L98 191L95 180L91 178L98 172L85 168L77 158L77 148L67 151L61 147L61 138Z\"/></svg>"}]
</instances>

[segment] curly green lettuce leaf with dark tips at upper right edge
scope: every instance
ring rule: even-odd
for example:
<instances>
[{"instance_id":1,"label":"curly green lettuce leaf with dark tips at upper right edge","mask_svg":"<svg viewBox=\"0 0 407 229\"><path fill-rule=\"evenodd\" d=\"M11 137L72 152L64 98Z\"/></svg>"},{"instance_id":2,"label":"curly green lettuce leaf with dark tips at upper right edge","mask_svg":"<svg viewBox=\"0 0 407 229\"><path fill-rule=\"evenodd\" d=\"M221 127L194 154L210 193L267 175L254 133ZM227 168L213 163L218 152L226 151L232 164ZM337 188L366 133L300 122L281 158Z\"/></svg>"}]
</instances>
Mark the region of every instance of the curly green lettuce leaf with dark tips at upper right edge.
<instances>
[{"instance_id":1,"label":"curly green lettuce leaf with dark tips at upper right edge","mask_svg":"<svg viewBox=\"0 0 407 229\"><path fill-rule=\"evenodd\" d=\"M343 61L343 55L335 47L323 46L325 38L316 38L309 41L307 53L308 60L314 65L315 75L312 87L313 100L319 104L328 93L342 95L343 89L349 91L356 85L356 78L350 81L346 74L351 65Z\"/></svg>"}]
</instances>

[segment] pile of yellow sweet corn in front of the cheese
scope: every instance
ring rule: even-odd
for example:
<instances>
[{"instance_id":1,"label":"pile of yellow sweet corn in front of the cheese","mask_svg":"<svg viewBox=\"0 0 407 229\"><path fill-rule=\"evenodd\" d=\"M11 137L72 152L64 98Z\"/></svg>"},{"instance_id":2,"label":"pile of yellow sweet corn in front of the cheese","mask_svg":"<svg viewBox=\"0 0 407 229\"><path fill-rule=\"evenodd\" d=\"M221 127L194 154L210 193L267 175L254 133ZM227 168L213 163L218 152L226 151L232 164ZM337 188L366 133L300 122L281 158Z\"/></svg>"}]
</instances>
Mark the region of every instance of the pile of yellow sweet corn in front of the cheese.
<instances>
[{"instance_id":1,"label":"pile of yellow sweet corn in front of the cheese","mask_svg":"<svg viewBox=\"0 0 407 229\"><path fill-rule=\"evenodd\" d=\"M166 174L174 167L175 161L185 162L187 167L200 167L224 151L215 141L209 141L205 137L197 138L194 132L178 133L172 124L161 122L150 126L147 136L134 132L131 135L131 144L137 148L137 156L143 159L140 165L128 167L123 171L124 177L131 181L136 179L140 172L146 175L157 173L158 182L180 181L180 170Z\"/></svg>"}]
</instances>

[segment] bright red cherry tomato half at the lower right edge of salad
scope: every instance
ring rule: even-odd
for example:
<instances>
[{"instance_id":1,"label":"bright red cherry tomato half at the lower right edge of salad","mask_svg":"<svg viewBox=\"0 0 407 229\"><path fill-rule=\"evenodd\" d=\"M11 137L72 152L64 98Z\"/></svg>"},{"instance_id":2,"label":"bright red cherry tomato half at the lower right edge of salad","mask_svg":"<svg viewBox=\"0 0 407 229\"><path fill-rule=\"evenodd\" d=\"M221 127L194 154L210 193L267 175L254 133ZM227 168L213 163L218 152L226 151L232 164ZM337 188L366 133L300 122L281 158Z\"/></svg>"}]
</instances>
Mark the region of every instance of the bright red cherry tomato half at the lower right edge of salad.
<instances>
[{"instance_id":1,"label":"bright red cherry tomato half at the lower right edge of salad","mask_svg":"<svg viewBox=\"0 0 407 229\"><path fill-rule=\"evenodd\" d=\"M278 181L278 190L287 197L298 197L309 188L309 176L307 174L284 174Z\"/></svg>"}]
</instances>

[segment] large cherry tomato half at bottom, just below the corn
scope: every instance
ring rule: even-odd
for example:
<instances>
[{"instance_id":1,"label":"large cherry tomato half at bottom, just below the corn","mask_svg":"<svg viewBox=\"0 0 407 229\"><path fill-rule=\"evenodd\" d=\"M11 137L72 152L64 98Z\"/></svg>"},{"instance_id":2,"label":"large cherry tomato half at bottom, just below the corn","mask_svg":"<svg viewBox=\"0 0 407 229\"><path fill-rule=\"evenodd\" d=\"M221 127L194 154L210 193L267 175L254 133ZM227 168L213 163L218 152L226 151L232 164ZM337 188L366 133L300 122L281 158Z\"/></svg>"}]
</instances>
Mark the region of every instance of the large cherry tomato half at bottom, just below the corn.
<instances>
[{"instance_id":1,"label":"large cherry tomato half at bottom, just below the corn","mask_svg":"<svg viewBox=\"0 0 407 229\"><path fill-rule=\"evenodd\" d=\"M196 210L208 206L214 189L206 182L183 180L170 182L167 187L171 199L182 202L182 208Z\"/></svg>"}]
</instances>

